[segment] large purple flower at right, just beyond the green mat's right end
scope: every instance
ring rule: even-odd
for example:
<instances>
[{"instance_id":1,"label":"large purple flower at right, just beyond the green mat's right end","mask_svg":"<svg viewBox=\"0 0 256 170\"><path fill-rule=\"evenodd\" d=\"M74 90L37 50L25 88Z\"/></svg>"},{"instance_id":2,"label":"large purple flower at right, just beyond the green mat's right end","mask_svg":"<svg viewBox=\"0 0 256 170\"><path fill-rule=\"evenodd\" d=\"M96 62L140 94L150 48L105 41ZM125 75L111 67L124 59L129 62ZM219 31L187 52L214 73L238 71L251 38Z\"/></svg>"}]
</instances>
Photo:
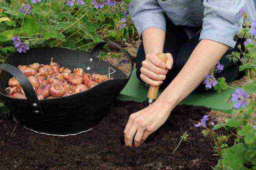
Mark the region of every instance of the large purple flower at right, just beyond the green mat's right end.
<instances>
[{"instance_id":1,"label":"large purple flower at right, just beyond the green mat's right end","mask_svg":"<svg viewBox=\"0 0 256 170\"><path fill-rule=\"evenodd\" d=\"M247 93L244 91L244 89L236 89L235 93L232 93L232 98L231 100L233 102L236 102L236 104L234 104L234 108L239 109L241 107L246 106L247 102Z\"/></svg>"}]
</instances>

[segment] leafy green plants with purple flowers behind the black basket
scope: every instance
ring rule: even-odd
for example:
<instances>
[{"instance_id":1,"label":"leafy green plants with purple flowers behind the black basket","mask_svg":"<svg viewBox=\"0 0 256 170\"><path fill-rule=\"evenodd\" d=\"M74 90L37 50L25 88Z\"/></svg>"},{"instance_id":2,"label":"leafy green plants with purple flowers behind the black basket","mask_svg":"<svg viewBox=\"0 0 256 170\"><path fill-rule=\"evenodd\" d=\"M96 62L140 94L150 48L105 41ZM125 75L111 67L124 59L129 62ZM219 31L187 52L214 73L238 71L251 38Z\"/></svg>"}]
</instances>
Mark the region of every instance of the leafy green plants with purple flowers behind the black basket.
<instances>
[{"instance_id":1,"label":"leafy green plants with purple flowers behind the black basket","mask_svg":"<svg viewBox=\"0 0 256 170\"><path fill-rule=\"evenodd\" d=\"M132 38L130 0L0 0L0 57L36 46L88 52L100 41Z\"/></svg>"}]
</instances>

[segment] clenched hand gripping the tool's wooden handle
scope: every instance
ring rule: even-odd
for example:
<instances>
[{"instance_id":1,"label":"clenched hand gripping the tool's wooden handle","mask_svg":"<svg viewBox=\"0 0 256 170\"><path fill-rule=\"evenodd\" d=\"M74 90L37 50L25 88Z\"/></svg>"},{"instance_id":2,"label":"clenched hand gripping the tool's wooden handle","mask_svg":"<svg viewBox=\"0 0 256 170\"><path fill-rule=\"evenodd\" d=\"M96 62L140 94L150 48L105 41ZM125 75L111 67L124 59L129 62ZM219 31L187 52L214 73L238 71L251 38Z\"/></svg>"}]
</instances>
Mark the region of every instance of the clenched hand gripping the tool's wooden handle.
<instances>
[{"instance_id":1,"label":"clenched hand gripping the tool's wooden handle","mask_svg":"<svg viewBox=\"0 0 256 170\"><path fill-rule=\"evenodd\" d=\"M173 58L170 53L166 53L167 61L164 63L156 54L147 54L142 61L140 68L140 78L150 86L159 86L166 77L168 69L172 68Z\"/></svg>"}]
</instances>

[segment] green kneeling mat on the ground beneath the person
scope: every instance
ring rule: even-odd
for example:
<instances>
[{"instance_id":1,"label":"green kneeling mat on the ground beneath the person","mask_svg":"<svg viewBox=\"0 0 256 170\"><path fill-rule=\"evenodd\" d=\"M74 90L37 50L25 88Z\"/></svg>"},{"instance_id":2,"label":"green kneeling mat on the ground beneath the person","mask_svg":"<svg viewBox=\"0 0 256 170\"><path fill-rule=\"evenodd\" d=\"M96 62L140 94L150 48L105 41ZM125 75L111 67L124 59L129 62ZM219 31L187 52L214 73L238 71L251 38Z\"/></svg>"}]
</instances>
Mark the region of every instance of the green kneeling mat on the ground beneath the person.
<instances>
[{"instance_id":1,"label":"green kneeling mat on the ground beneath the person","mask_svg":"<svg viewBox=\"0 0 256 170\"><path fill-rule=\"evenodd\" d=\"M143 102L147 100L148 88L136 77L136 69L132 72L132 77L128 81L125 88L121 91L117 97L118 100L123 101L138 101ZM163 89L159 89L158 96L163 92ZM230 94L234 92L234 89L228 88L223 90L219 94L217 91L207 93L195 93L192 92L186 97L180 104L192 104L195 106L205 106L212 110L217 110L225 113L232 114L232 107L234 103L228 104L230 100ZM171 94L170 94L171 95Z\"/></svg>"}]
</instances>

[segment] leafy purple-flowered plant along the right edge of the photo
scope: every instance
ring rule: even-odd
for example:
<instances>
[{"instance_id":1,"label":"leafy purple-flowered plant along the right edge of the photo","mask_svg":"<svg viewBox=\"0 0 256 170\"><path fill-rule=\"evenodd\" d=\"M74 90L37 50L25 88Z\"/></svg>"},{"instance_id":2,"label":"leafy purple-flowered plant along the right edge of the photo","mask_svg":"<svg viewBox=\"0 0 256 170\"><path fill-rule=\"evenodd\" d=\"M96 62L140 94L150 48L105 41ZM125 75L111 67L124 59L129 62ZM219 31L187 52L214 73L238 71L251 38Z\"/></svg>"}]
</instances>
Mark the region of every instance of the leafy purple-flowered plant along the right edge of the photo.
<instances>
[{"instance_id":1,"label":"leafy purple-flowered plant along the right edge of the photo","mask_svg":"<svg viewBox=\"0 0 256 170\"><path fill-rule=\"evenodd\" d=\"M210 124L208 125L210 126L209 128L206 127L204 118L195 125L196 127L204 127L205 129L202 133L206 137L212 137L215 142L216 146L214 148L218 151L220 159L213 169L256 169L256 126L254 124L256 80L251 80L256 72L256 19L250 24L247 21L247 13L243 10L240 13L244 16L245 22L243 28L239 30L238 36L246 38L246 42L244 42L245 50L242 51L241 45L238 45L241 53L233 52L227 58L233 62L241 61L242 65L239 67L239 71L246 71L248 84L230 87L235 89L235 92L231 95L231 101L234 104L233 118L227 120L226 123L216 124L212 128ZM241 55L242 57L240 58ZM224 85L224 79L217 81L218 83L215 82L214 89L220 91L222 86L229 87ZM216 138L214 130L223 127L230 132L230 135ZM225 142L228 141L230 136L235 136L236 139L234 145L227 148Z\"/></svg>"}]
</instances>

